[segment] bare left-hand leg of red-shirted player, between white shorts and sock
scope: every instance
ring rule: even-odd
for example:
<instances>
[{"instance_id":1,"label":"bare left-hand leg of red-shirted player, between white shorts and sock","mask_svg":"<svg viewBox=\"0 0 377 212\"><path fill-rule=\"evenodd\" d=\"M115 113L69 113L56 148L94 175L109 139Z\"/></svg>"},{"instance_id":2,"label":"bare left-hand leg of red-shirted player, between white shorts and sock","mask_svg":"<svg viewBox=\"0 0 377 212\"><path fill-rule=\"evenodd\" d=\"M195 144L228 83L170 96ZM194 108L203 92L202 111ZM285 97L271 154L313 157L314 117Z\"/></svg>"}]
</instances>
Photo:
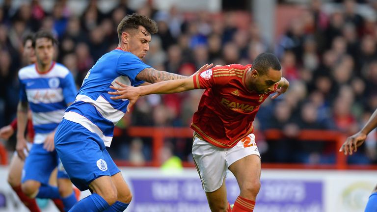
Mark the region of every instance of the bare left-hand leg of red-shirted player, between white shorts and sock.
<instances>
[{"instance_id":1,"label":"bare left-hand leg of red-shirted player, between white shorts and sock","mask_svg":"<svg viewBox=\"0 0 377 212\"><path fill-rule=\"evenodd\" d=\"M228 200L226 197L225 178L223 179L220 188L213 192L206 192L208 205L211 211L221 211L228 207Z\"/></svg>"}]
</instances>

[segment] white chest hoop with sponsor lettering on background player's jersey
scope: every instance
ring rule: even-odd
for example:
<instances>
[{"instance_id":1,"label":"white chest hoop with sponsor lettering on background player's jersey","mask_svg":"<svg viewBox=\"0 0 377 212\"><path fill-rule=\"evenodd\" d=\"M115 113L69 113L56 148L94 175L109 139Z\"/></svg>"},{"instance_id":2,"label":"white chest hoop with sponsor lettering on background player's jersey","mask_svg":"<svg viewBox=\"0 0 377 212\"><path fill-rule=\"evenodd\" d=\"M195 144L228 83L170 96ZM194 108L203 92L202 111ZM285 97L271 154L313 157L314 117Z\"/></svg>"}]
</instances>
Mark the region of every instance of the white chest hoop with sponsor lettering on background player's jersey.
<instances>
[{"instance_id":1,"label":"white chest hoop with sponsor lettering on background player's jersey","mask_svg":"<svg viewBox=\"0 0 377 212\"><path fill-rule=\"evenodd\" d=\"M27 89L27 101L34 104L59 103L64 100L61 88L37 88Z\"/></svg>"}]
</instances>

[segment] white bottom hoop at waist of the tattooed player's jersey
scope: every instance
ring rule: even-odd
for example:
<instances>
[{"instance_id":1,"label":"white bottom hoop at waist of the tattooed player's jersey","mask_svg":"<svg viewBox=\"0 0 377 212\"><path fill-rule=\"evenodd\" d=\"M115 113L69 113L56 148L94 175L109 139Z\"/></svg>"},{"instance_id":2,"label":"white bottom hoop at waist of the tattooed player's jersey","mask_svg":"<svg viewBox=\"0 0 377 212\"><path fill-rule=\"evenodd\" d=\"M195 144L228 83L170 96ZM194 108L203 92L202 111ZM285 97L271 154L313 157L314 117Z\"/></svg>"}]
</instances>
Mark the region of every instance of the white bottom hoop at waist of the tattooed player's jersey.
<instances>
[{"instance_id":1,"label":"white bottom hoop at waist of the tattooed player's jersey","mask_svg":"<svg viewBox=\"0 0 377 212\"><path fill-rule=\"evenodd\" d=\"M86 128L90 132L96 133L104 141L105 146L110 147L112 137L105 136L101 129L86 117L72 111L66 112L63 117L69 121L81 124L82 127Z\"/></svg>"}]
</instances>

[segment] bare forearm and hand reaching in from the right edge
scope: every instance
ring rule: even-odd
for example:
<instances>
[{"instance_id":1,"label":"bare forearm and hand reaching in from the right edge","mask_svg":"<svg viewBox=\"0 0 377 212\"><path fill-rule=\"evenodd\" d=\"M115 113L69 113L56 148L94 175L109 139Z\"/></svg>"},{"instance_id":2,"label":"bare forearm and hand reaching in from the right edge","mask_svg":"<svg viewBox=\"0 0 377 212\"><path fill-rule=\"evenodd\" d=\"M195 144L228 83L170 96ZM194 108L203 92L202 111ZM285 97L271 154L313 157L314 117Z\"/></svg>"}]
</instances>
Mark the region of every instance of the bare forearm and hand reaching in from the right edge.
<instances>
[{"instance_id":1,"label":"bare forearm and hand reaching in from the right edge","mask_svg":"<svg viewBox=\"0 0 377 212\"><path fill-rule=\"evenodd\" d=\"M339 152L343 152L345 155L352 155L353 152L357 151L357 147L364 143L369 132L377 127L377 109L373 112L372 116L369 118L367 124L356 134L351 135L343 143Z\"/></svg>"}]
</instances>

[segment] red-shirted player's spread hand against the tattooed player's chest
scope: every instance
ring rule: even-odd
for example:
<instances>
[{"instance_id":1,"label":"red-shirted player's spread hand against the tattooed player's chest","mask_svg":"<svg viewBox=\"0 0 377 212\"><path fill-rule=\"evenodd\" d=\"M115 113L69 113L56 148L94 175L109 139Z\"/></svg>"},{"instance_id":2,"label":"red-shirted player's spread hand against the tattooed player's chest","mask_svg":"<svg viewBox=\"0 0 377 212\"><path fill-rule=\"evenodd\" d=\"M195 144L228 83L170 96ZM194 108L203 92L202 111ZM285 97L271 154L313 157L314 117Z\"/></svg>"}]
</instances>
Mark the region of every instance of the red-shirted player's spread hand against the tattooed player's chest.
<instances>
[{"instance_id":1,"label":"red-shirted player's spread hand against the tattooed player's chest","mask_svg":"<svg viewBox=\"0 0 377 212\"><path fill-rule=\"evenodd\" d=\"M119 99L128 99L130 103L127 106L127 112L130 112L130 109L132 106L136 103L136 101L140 98L140 94L138 92L140 87L133 87L126 84L123 84L117 80L115 80L115 83L120 85L120 87L114 87L110 85L111 89L114 89L116 91L108 92L110 95L115 95L110 97L110 99L113 100L119 100Z\"/></svg>"}]
</instances>

